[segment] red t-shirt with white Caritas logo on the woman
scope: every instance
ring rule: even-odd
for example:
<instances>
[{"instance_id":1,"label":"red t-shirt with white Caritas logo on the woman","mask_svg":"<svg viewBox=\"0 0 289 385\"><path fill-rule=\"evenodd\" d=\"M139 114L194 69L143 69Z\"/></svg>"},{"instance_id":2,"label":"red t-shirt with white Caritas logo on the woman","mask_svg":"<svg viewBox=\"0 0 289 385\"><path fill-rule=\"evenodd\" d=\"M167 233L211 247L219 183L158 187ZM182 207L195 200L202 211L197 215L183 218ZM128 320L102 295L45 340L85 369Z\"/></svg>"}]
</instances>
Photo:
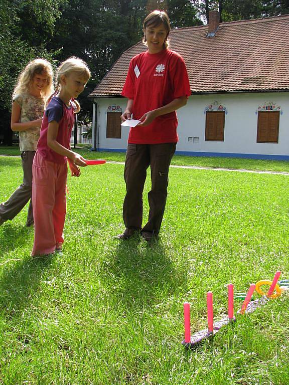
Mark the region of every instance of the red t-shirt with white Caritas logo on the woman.
<instances>
[{"instance_id":1,"label":"red t-shirt with white Caritas logo on the woman","mask_svg":"<svg viewBox=\"0 0 289 385\"><path fill-rule=\"evenodd\" d=\"M143 52L134 56L122 89L122 96L133 99L133 119L163 107L176 98L191 95L188 73L183 58L165 49L157 54ZM175 143L178 119L176 111L158 116L146 127L130 128L128 143Z\"/></svg>"}]
</instances>

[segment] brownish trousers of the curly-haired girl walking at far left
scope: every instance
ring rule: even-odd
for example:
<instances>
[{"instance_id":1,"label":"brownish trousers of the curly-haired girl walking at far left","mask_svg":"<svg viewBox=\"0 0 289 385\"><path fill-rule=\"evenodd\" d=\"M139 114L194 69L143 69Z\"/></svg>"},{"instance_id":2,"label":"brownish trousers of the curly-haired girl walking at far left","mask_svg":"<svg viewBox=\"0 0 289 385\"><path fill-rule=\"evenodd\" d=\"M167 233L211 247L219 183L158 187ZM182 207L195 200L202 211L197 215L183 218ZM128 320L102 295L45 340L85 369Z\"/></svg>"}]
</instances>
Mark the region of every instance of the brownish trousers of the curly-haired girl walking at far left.
<instances>
[{"instance_id":1,"label":"brownish trousers of the curly-haired girl walking at far left","mask_svg":"<svg viewBox=\"0 0 289 385\"><path fill-rule=\"evenodd\" d=\"M8 201L0 205L0 218L4 221L12 220L30 200L26 226L33 224L32 210L32 163L36 151L21 152L23 183L14 191Z\"/></svg>"}]
</instances>

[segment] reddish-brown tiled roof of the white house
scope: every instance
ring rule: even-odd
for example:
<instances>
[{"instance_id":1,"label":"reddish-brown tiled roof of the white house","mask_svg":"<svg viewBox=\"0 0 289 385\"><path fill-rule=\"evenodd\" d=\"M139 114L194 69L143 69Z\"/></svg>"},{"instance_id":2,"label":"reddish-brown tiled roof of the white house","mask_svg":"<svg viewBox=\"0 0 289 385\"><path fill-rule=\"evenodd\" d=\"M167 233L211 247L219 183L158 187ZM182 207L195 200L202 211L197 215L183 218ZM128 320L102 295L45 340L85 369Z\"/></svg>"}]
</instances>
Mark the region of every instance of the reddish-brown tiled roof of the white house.
<instances>
[{"instance_id":1,"label":"reddish-brown tiled roof of the white house","mask_svg":"<svg viewBox=\"0 0 289 385\"><path fill-rule=\"evenodd\" d=\"M170 32L170 48L184 58L192 93L289 91L289 15L221 23L214 37L208 26ZM146 50L126 50L91 97L120 96L130 59Z\"/></svg>"}]
</instances>

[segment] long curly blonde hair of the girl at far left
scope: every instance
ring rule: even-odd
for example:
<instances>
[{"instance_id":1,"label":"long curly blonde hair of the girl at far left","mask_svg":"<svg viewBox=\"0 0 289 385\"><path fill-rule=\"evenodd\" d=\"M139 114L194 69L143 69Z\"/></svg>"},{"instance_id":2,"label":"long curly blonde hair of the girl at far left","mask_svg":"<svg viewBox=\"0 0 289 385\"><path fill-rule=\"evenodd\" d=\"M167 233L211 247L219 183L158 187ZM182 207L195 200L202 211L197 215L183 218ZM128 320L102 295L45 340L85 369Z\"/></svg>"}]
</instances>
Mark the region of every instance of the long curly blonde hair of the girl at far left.
<instances>
[{"instance_id":1,"label":"long curly blonde hair of the girl at far left","mask_svg":"<svg viewBox=\"0 0 289 385\"><path fill-rule=\"evenodd\" d=\"M13 99L16 95L29 93L31 82L36 74L47 74L46 85L41 90L41 96L46 101L54 90L53 69L51 64L45 59L35 59L27 64L25 69L18 77L18 83L13 91Z\"/></svg>"}]
</instances>

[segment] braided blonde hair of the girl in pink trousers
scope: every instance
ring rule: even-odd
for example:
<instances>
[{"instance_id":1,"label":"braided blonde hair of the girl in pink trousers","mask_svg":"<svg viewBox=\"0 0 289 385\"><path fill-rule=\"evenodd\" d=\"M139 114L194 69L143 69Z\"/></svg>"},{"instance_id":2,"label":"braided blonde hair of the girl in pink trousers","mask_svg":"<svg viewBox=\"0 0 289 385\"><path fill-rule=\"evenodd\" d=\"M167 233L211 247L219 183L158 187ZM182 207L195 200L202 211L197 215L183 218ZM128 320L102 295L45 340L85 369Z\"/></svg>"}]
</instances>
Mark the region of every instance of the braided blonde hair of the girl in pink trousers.
<instances>
[{"instance_id":1,"label":"braided blonde hair of the girl in pink trousers","mask_svg":"<svg viewBox=\"0 0 289 385\"><path fill-rule=\"evenodd\" d=\"M65 75L68 76L71 72L76 72L79 76L84 77L89 80L91 73L89 71L89 68L87 67L87 64L82 60L77 58L76 56L71 56L67 60L61 63L61 65L58 67L57 73L56 73L56 89L58 90L58 87L61 87L61 76ZM80 111L80 104L77 100L73 100L73 102L76 104L76 111Z\"/></svg>"}]
</instances>

